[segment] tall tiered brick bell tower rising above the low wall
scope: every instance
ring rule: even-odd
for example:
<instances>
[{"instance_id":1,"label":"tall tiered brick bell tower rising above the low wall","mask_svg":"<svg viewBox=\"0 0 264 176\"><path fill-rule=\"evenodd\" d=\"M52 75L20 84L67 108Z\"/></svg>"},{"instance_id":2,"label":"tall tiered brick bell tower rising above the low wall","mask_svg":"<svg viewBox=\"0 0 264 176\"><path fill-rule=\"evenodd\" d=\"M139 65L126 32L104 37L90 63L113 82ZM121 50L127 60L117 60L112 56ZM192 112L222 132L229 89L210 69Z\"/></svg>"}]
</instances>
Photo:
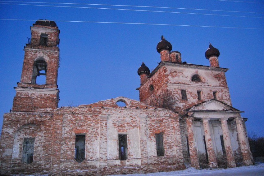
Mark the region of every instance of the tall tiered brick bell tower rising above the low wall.
<instances>
[{"instance_id":1,"label":"tall tiered brick bell tower rising above the low wall","mask_svg":"<svg viewBox=\"0 0 264 176\"><path fill-rule=\"evenodd\" d=\"M56 23L38 20L25 56L20 82L17 83L12 111L50 112L58 107L59 33Z\"/></svg>"}]
</instances>

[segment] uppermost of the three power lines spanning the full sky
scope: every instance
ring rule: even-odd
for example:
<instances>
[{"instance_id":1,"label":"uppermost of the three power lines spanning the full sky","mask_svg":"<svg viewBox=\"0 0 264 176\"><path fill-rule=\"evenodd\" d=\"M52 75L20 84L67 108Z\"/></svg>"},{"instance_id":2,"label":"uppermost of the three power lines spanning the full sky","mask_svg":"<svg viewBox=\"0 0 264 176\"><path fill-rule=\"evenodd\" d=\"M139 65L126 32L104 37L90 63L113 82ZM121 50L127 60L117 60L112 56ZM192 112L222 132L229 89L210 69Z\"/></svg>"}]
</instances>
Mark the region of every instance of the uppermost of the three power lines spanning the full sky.
<instances>
[{"instance_id":1,"label":"uppermost of the three power lines spanning the full sky","mask_svg":"<svg viewBox=\"0 0 264 176\"><path fill-rule=\"evenodd\" d=\"M21 2L21 1L0 1L0 2ZM191 9L191 8L178 8L178 7L157 7L157 6L129 6L129 5L112 5L112 4L83 4L83 3L62 3L62 2L23 2L23 3L42 3L42 4L74 4L74 5L95 5L95 6L125 6L125 7L149 7L149 8L166 8L166 9L183 9L183 10L200 10L200 11L221 11L221 12L239 12L239 13L256 13L264 14L261 12L245 12L245 11L223 11L223 10L210 10L210 9Z\"/></svg>"}]
</instances>

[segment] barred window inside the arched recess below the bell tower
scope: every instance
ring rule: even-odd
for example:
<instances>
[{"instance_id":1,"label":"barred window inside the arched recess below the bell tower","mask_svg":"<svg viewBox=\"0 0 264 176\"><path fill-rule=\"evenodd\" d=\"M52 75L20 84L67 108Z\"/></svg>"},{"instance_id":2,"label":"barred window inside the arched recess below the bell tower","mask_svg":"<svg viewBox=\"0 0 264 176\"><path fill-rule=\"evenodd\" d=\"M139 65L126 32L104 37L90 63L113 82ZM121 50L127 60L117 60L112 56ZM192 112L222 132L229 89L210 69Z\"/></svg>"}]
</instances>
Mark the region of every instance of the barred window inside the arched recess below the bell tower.
<instances>
[{"instance_id":1,"label":"barred window inside the arched recess below the bell tower","mask_svg":"<svg viewBox=\"0 0 264 176\"><path fill-rule=\"evenodd\" d=\"M24 138L21 162L30 164L33 162L35 138Z\"/></svg>"}]
</instances>

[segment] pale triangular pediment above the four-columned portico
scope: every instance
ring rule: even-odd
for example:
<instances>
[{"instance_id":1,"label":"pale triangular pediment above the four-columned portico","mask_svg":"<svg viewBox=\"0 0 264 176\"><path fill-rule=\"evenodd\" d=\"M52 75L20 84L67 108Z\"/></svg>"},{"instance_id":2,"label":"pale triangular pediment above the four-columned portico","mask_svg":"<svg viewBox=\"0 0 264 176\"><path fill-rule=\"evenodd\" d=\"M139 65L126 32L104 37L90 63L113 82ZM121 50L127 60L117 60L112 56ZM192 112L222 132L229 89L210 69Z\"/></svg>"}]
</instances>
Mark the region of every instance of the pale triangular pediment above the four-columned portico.
<instances>
[{"instance_id":1,"label":"pale triangular pediment above the four-columned portico","mask_svg":"<svg viewBox=\"0 0 264 176\"><path fill-rule=\"evenodd\" d=\"M186 109L187 111L239 111L230 105L227 105L221 101L211 99L194 105L193 107Z\"/></svg>"}]
</instances>

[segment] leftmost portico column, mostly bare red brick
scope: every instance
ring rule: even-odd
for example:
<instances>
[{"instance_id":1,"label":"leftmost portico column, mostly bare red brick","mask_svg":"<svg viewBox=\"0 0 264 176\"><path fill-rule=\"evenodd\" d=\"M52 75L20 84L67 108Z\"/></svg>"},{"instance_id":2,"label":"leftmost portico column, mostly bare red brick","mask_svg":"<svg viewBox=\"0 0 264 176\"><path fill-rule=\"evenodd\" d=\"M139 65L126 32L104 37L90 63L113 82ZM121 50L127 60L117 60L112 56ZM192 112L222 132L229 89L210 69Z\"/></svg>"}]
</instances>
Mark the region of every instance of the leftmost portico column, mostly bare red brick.
<instances>
[{"instance_id":1,"label":"leftmost portico column, mostly bare red brick","mask_svg":"<svg viewBox=\"0 0 264 176\"><path fill-rule=\"evenodd\" d=\"M196 148L196 144L194 141L193 118L187 118L186 124L187 124L187 135L188 135L191 166L195 169L200 169L200 163L199 163L199 158L198 158L198 154L197 154L197 148Z\"/></svg>"}]
</instances>

